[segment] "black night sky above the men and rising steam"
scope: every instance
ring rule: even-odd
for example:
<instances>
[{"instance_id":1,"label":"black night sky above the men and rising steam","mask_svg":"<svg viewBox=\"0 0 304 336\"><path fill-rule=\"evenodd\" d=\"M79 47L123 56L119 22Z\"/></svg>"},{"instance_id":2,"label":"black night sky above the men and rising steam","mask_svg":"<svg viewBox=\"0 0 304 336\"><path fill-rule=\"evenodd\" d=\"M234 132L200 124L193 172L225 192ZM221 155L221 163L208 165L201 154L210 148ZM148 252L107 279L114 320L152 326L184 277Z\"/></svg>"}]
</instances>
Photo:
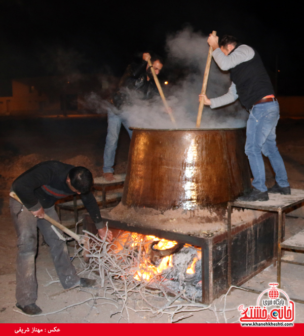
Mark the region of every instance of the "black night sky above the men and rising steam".
<instances>
[{"instance_id":1,"label":"black night sky above the men and rising steam","mask_svg":"<svg viewBox=\"0 0 304 336\"><path fill-rule=\"evenodd\" d=\"M167 34L192 26L237 36L260 53L272 79L278 64L279 95L304 94L303 17L293 2L0 0L0 16L0 80L120 76L142 51L166 56Z\"/></svg>"}]
</instances>

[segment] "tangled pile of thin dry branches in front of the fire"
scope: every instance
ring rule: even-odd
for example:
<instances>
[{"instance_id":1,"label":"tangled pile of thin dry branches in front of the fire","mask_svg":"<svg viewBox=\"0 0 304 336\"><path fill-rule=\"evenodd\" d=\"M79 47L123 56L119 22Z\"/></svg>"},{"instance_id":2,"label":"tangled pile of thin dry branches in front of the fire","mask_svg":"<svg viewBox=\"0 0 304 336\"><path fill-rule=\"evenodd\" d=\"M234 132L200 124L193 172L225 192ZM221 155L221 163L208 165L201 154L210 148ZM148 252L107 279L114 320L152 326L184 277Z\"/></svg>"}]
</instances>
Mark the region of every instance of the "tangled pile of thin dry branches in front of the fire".
<instances>
[{"instance_id":1,"label":"tangled pile of thin dry branches in front of the fire","mask_svg":"<svg viewBox=\"0 0 304 336\"><path fill-rule=\"evenodd\" d=\"M129 322L129 311L166 314L171 323L206 309L216 315L215 307L196 303L184 291L170 297L162 284L165 275L155 274L147 280L144 274L151 272L151 266L144 257L144 246L150 242L146 236L124 233L109 244L87 231L84 233L89 237L89 245L85 247L89 262L84 263L82 272L99 273L103 298L115 301L119 320L124 318Z\"/></svg>"}]
</instances>

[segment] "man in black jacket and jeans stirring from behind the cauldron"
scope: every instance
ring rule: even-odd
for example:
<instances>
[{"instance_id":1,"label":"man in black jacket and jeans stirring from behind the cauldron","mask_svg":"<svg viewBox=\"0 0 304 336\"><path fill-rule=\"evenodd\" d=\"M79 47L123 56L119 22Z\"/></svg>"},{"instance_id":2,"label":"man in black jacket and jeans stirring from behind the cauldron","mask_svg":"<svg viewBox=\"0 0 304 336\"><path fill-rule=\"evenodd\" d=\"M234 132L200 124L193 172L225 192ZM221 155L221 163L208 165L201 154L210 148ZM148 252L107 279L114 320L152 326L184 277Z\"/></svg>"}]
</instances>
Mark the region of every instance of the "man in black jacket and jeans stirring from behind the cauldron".
<instances>
[{"instance_id":1,"label":"man in black jacket and jeans stirring from behind the cauldron","mask_svg":"<svg viewBox=\"0 0 304 336\"><path fill-rule=\"evenodd\" d=\"M117 91L110 99L111 105L108 108L108 129L103 155L103 175L108 181L115 179L112 166L114 165L121 124L128 131L130 138L132 136L128 120L121 116L122 106L128 102L130 91L137 92L142 99L149 99L158 93L153 74L147 63L149 59L156 74L159 74L163 67L162 58L157 55L151 56L149 53L143 53L141 63L128 65Z\"/></svg>"}]
</instances>

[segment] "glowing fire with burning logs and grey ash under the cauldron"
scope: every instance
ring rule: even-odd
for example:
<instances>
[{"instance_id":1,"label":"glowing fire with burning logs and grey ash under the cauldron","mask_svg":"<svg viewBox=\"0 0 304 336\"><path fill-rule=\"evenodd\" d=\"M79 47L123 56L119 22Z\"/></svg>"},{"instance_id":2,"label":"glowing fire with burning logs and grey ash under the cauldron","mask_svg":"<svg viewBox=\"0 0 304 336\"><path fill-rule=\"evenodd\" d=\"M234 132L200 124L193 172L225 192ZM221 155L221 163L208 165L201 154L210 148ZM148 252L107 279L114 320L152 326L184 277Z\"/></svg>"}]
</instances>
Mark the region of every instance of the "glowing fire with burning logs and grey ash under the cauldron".
<instances>
[{"instance_id":1,"label":"glowing fire with burning logs and grey ash under the cauldron","mask_svg":"<svg viewBox=\"0 0 304 336\"><path fill-rule=\"evenodd\" d=\"M129 271L135 280L148 282L151 287L155 282L161 282L166 290L173 293L186 286L192 297L201 297L199 248L155 236L123 232L116 238L111 250L118 253L126 249L126 245L130 246L130 255L134 252L138 255Z\"/></svg>"}]
</instances>

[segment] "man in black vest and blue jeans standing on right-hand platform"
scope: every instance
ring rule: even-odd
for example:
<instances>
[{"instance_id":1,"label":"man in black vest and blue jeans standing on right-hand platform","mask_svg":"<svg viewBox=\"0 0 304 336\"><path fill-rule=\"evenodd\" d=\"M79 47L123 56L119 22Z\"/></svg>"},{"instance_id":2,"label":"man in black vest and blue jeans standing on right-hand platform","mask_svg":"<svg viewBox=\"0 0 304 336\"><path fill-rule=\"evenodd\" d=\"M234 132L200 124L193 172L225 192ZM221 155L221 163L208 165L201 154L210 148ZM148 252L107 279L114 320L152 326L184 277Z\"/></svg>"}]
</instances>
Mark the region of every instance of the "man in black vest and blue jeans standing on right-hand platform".
<instances>
[{"instance_id":1,"label":"man in black vest and blue jeans standing on right-hand platform","mask_svg":"<svg viewBox=\"0 0 304 336\"><path fill-rule=\"evenodd\" d=\"M215 108L239 98L250 113L245 153L253 175L253 190L238 200L267 201L268 193L290 195L286 169L276 144L279 103L260 56L253 48L238 43L231 35L224 35L218 43L218 36L210 34L208 44L213 48L212 56L217 65L222 70L230 70L232 84L223 96L208 99L201 94L200 101L204 98L205 105ZM276 184L268 190L262 153L269 158L276 174Z\"/></svg>"}]
</instances>

